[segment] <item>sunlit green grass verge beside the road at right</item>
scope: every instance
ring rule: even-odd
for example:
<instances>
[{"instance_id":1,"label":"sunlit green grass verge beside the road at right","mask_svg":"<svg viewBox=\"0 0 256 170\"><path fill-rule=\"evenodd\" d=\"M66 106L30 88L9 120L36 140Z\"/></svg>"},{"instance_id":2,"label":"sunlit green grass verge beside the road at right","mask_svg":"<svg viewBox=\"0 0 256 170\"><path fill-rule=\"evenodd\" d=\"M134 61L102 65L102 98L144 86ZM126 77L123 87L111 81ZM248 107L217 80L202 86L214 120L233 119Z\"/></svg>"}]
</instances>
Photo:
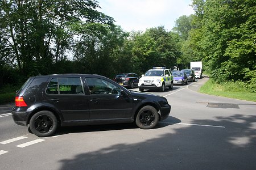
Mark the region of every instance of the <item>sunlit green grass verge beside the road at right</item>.
<instances>
[{"instance_id":1,"label":"sunlit green grass verge beside the road at right","mask_svg":"<svg viewBox=\"0 0 256 170\"><path fill-rule=\"evenodd\" d=\"M256 101L256 93L248 92L242 83L225 82L217 84L213 79L209 79L208 82L200 88L200 92L203 94L224 96L233 99L241 99L248 101Z\"/></svg>"}]
</instances>

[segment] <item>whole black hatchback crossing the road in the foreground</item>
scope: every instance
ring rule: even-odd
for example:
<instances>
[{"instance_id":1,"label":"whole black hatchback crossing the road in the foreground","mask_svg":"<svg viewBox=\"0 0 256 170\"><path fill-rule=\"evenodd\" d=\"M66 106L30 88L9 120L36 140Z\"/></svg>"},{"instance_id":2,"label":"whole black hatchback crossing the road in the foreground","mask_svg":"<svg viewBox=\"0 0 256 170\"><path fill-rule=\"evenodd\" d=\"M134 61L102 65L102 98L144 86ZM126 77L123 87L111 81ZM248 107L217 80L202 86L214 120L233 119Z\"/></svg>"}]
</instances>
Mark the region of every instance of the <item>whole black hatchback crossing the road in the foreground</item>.
<instances>
[{"instance_id":1,"label":"whole black hatchback crossing the road in the foreground","mask_svg":"<svg viewBox=\"0 0 256 170\"><path fill-rule=\"evenodd\" d=\"M16 124L29 124L32 133L47 137L59 125L135 122L151 129L170 111L165 97L129 91L104 76L56 74L29 78L11 112Z\"/></svg>"}]
</instances>

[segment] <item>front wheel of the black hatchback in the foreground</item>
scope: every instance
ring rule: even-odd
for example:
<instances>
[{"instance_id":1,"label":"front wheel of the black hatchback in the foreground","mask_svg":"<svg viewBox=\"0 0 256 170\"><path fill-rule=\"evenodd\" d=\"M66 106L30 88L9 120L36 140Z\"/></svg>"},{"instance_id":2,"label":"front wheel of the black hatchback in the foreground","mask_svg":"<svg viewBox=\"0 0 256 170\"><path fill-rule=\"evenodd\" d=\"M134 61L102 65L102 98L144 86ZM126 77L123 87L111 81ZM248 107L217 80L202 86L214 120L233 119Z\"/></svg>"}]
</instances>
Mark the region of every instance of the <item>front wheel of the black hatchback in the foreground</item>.
<instances>
[{"instance_id":1,"label":"front wheel of the black hatchback in the foreground","mask_svg":"<svg viewBox=\"0 0 256 170\"><path fill-rule=\"evenodd\" d=\"M158 121L158 111L154 107L146 105L139 110L135 123L141 129L152 129L158 124Z\"/></svg>"}]
</instances>

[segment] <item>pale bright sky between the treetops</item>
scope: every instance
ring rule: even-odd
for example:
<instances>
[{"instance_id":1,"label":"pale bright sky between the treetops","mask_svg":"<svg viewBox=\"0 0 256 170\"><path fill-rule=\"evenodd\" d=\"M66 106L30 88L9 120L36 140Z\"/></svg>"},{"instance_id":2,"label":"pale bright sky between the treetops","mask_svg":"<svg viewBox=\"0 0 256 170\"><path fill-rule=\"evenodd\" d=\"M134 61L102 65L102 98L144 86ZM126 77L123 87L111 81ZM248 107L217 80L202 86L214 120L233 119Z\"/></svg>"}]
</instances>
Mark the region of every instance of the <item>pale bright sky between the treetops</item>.
<instances>
[{"instance_id":1,"label":"pale bright sky between the treetops","mask_svg":"<svg viewBox=\"0 0 256 170\"><path fill-rule=\"evenodd\" d=\"M182 15L193 14L191 0L98 0L98 11L111 16L124 31L164 26L171 31Z\"/></svg>"}]
</instances>

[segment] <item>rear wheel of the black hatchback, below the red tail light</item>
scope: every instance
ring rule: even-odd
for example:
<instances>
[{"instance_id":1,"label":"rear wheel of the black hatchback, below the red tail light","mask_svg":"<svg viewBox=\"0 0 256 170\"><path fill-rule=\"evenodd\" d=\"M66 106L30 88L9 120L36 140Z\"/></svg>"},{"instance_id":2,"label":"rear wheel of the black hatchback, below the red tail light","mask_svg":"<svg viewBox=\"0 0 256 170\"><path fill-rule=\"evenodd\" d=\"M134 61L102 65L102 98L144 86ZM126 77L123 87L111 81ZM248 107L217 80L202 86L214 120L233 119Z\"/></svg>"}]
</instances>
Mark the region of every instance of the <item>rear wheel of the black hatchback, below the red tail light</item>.
<instances>
[{"instance_id":1,"label":"rear wheel of the black hatchback, below the red tail light","mask_svg":"<svg viewBox=\"0 0 256 170\"><path fill-rule=\"evenodd\" d=\"M49 111L35 113L30 119L30 130L38 137L49 137L57 130L57 118Z\"/></svg>"}]
</instances>

